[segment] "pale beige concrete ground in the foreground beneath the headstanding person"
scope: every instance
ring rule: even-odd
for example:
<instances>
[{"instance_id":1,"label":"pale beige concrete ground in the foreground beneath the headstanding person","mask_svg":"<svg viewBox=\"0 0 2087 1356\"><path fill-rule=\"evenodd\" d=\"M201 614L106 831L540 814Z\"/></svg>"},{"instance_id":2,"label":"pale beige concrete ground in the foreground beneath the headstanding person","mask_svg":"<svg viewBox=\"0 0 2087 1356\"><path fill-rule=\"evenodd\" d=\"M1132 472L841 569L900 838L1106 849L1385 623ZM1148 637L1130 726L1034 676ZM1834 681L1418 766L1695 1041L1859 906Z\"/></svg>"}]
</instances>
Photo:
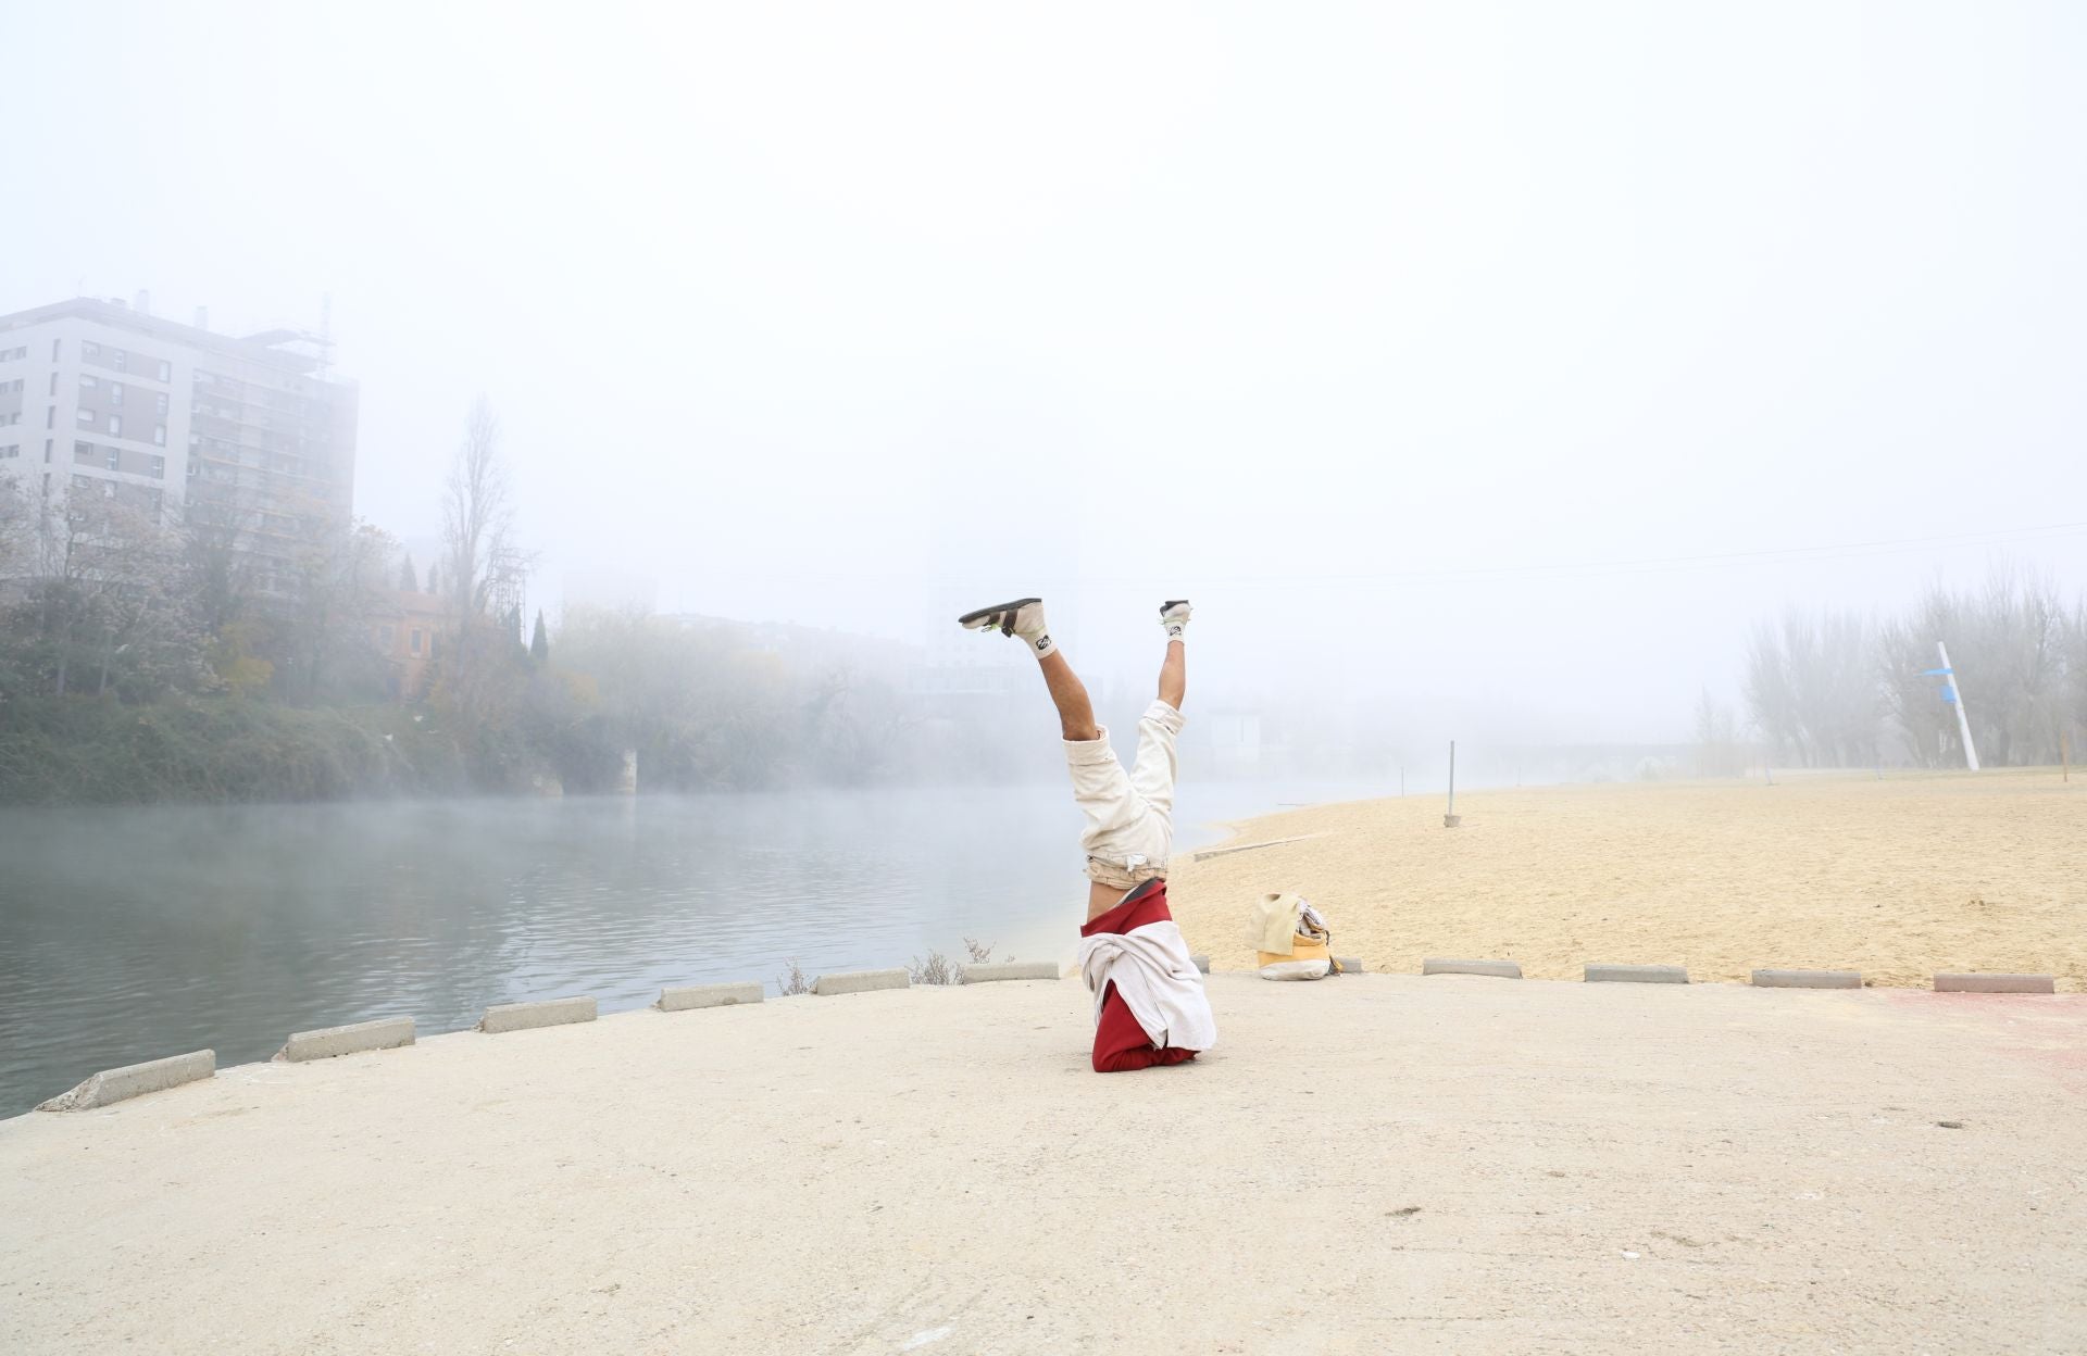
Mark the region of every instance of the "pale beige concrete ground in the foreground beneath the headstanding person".
<instances>
[{"instance_id":1,"label":"pale beige concrete ground in the foreground beneath the headstanding person","mask_svg":"<svg viewBox=\"0 0 2087 1356\"><path fill-rule=\"evenodd\" d=\"M424 1035L4 1120L0 1350L2087 1333L2087 995L1225 972L1208 993L1223 1043L1142 1074L1089 1072L1077 983L918 987ZM1165 1145L1167 1189L1127 1202L1127 1143ZM1108 1220L1133 1206L1125 1248Z\"/></svg>"}]
</instances>

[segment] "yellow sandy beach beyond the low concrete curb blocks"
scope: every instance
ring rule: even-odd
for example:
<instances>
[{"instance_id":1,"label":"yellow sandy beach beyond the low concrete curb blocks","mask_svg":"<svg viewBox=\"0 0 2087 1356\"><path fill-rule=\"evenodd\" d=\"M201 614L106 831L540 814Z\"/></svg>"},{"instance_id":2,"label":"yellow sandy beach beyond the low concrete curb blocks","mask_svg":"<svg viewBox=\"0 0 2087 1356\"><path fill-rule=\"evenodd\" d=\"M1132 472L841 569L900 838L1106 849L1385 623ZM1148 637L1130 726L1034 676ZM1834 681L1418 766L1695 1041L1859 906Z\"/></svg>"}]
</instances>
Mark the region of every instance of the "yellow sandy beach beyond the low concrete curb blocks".
<instances>
[{"instance_id":1,"label":"yellow sandy beach beyond the low concrete curb blocks","mask_svg":"<svg viewBox=\"0 0 2087 1356\"><path fill-rule=\"evenodd\" d=\"M1638 782L1317 805L1233 824L1175 862L1175 918L1219 970L1250 968L1263 891L1313 899L1336 953L1417 972L1428 955L1862 970L1924 987L1941 970L2056 974L2087 989L2087 776L1778 774L1776 784ZM1219 845L1223 847L1223 845Z\"/></svg>"}]
</instances>

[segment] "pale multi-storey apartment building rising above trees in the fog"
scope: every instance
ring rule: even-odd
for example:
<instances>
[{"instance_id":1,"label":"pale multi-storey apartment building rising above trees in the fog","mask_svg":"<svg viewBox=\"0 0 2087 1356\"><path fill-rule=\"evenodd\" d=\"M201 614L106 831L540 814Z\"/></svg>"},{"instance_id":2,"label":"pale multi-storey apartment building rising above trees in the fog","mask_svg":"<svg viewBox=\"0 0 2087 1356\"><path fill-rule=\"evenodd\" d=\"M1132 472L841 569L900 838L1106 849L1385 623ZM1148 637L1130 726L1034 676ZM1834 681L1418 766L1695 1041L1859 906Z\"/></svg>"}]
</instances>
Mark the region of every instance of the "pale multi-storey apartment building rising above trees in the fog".
<instances>
[{"instance_id":1,"label":"pale multi-storey apartment building rising above trees in the fog","mask_svg":"<svg viewBox=\"0 0 2087 1356\"><path fill-rule=\"evenodd\" d=\"M298 547L353 513L357 388L328 380L323 338L196 319L142 292L0 317L0 476L219 532L282 592Z\"/></svg>"}]
</instances>

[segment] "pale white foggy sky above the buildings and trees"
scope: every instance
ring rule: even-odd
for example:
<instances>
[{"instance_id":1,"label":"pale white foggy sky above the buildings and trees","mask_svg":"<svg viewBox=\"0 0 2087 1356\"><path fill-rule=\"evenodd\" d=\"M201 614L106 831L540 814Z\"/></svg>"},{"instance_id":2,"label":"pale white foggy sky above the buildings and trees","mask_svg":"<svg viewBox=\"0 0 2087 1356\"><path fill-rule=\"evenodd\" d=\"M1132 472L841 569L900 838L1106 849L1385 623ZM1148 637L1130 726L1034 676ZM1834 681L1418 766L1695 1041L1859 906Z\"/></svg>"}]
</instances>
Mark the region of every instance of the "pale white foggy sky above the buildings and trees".
<instances>
[{"instance_id":1,"label":"pale white foggy sky above the buildings and trees","mask_svg":"<svg viewBox=\"0 0 2087 1356\"><path fill-rule=\"evenodd\" d=\"M0 311L332 294L357 513L432 536L486 392L549 607L925 640L1041 592L1144 682L1190 595L1192 703L1592 741L1684 738L1791 601L2087 586L2072 4L17 4L6 48Z\"/></svg>"}]
</instances>

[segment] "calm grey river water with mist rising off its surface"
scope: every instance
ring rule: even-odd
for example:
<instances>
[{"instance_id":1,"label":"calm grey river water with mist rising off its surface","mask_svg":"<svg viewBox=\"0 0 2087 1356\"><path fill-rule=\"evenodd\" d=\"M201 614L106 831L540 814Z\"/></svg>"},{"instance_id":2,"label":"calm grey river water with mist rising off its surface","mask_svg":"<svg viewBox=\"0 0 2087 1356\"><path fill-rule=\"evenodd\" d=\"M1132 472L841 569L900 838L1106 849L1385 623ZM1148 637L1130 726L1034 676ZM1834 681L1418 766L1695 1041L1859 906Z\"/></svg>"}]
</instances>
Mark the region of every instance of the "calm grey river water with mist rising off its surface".
<instances>
[{"instance_id":1,"label":"calm grey river water with mist rising off its surface","mask_svg":"<svg viewBox=\"0 0 2087 1356\"><path fill-rule=\"evenodd\" d=\"M1217 820L1377 786L1188 784ZM1071 958L1079 812L1058 784L545 801L0 812L0 1116L98 1068L265 1060L292 1031L488 1003Z\"/></svg>"}]
</instances>

